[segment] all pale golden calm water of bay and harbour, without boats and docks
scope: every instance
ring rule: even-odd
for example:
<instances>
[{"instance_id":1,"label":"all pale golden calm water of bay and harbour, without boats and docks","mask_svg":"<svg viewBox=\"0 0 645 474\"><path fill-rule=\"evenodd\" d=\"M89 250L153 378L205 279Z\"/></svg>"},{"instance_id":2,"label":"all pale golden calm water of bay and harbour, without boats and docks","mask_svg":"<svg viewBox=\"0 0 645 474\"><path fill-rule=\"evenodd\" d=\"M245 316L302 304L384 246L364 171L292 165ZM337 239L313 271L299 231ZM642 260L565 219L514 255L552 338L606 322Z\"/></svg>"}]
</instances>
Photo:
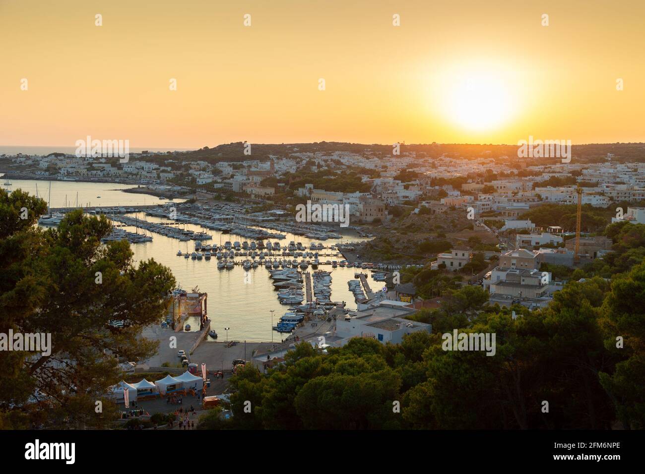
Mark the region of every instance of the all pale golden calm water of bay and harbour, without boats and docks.
<instances>
[{"instance_id":1,"label":"all pale golden calm water of bay and harbour, without boats and docks","mask_svg":"<svg viewBox=\"0 0 645 474\"><path fill-rule=\"evenodd\" d=\"M3 181L4 182L4 181ZM49 190L48 181L28 181L12 180L12 190L22 188L30 193L36 191L38 186L39 195L45 197ZM75 183L71 181L52 181L52 207L64 207L65 195L67 201L74 206L76 202L76 193L79 193L79 204L91 202L92 205L104 206L134 206L137 204L157 204L164 201L154 196L143 194L132 194L117 191L119 189L129 188L132 186L113 183ZM100 195L101 199L97 199ZM179 202L179 201L175 201ZM133 214L134 215L134 214ZM144 214L138 213L137 216L143 219ZM148 221L163 222L168 219L148 216ZM179 225L179 224L178 224ZM215 230L203 229L200 226L191 224L181 224L190 230L205 230L213 239L206 241L208 244L224 244L226 241L243 242L245 239L235 234L222 234ZM126 230L136 232L134 227L124 227ZM140 231L141 232L141 231ZM273 231L275 232L275 231ZM264 265L258 268L252 268L248 271L251 275L250 283L246 277L247 271L241 265L236 265L232 270L219 270L217 268L217 259L213 255L210 261L202 259L201 261L193 259L184 259L177 257L177 250L182 253L186 251L193 252L194 241L180 242L177 239L171 239L157 233L152 234L152 242L141 244L132 244L135 261L146 259L155 259L155 261L167 266L175 275L177 284L184 290L192 290L195 286L199 291L208 293L208 315L212 319L212 328L217 331L219 337L224 339L226 331L224 328L230 328L228 339L237 341L280 341L286 334L280 334L272 331L272 319L270 310L273 313L273 324L289 308L288 305L280 304L277 299L277 291L273 290L272 280L269 278L269 272ZM323 242L325 246L330 246L337 242L347 242L356 240L356 237L346 239L328 239ZM305 246L310 246L312 239L299 237L297 235L287 234L286 239L280 242L281 246L286 246L290 241L302 242ZM315 240L314 240L315 241ZM315 241L319 242L319 241ZM324 250L320 253L332 253L330 250ZM243 261L245 257L236 257L235 261ZM277 258L277 257L273 257ZM293 257L292 257L293 259ZM320 257L321 261L337 260L341 261L342 257ZM259 259L257 259L259 261ZM301 258L298 259L299 261ZM355 268L332 268L331 265L320 265L319 270L332 271L332 301L345 301L347 308L355 309L353 293L347 286L347 281L354 278ZM310 271L311 268L310 268ZM366 272L366 270L363 270ZM368 279L372 290L379 290L382 283ZM189 319L189 324L193 328L199 328L197 319Z\"/></svg>"}]
</instances>

